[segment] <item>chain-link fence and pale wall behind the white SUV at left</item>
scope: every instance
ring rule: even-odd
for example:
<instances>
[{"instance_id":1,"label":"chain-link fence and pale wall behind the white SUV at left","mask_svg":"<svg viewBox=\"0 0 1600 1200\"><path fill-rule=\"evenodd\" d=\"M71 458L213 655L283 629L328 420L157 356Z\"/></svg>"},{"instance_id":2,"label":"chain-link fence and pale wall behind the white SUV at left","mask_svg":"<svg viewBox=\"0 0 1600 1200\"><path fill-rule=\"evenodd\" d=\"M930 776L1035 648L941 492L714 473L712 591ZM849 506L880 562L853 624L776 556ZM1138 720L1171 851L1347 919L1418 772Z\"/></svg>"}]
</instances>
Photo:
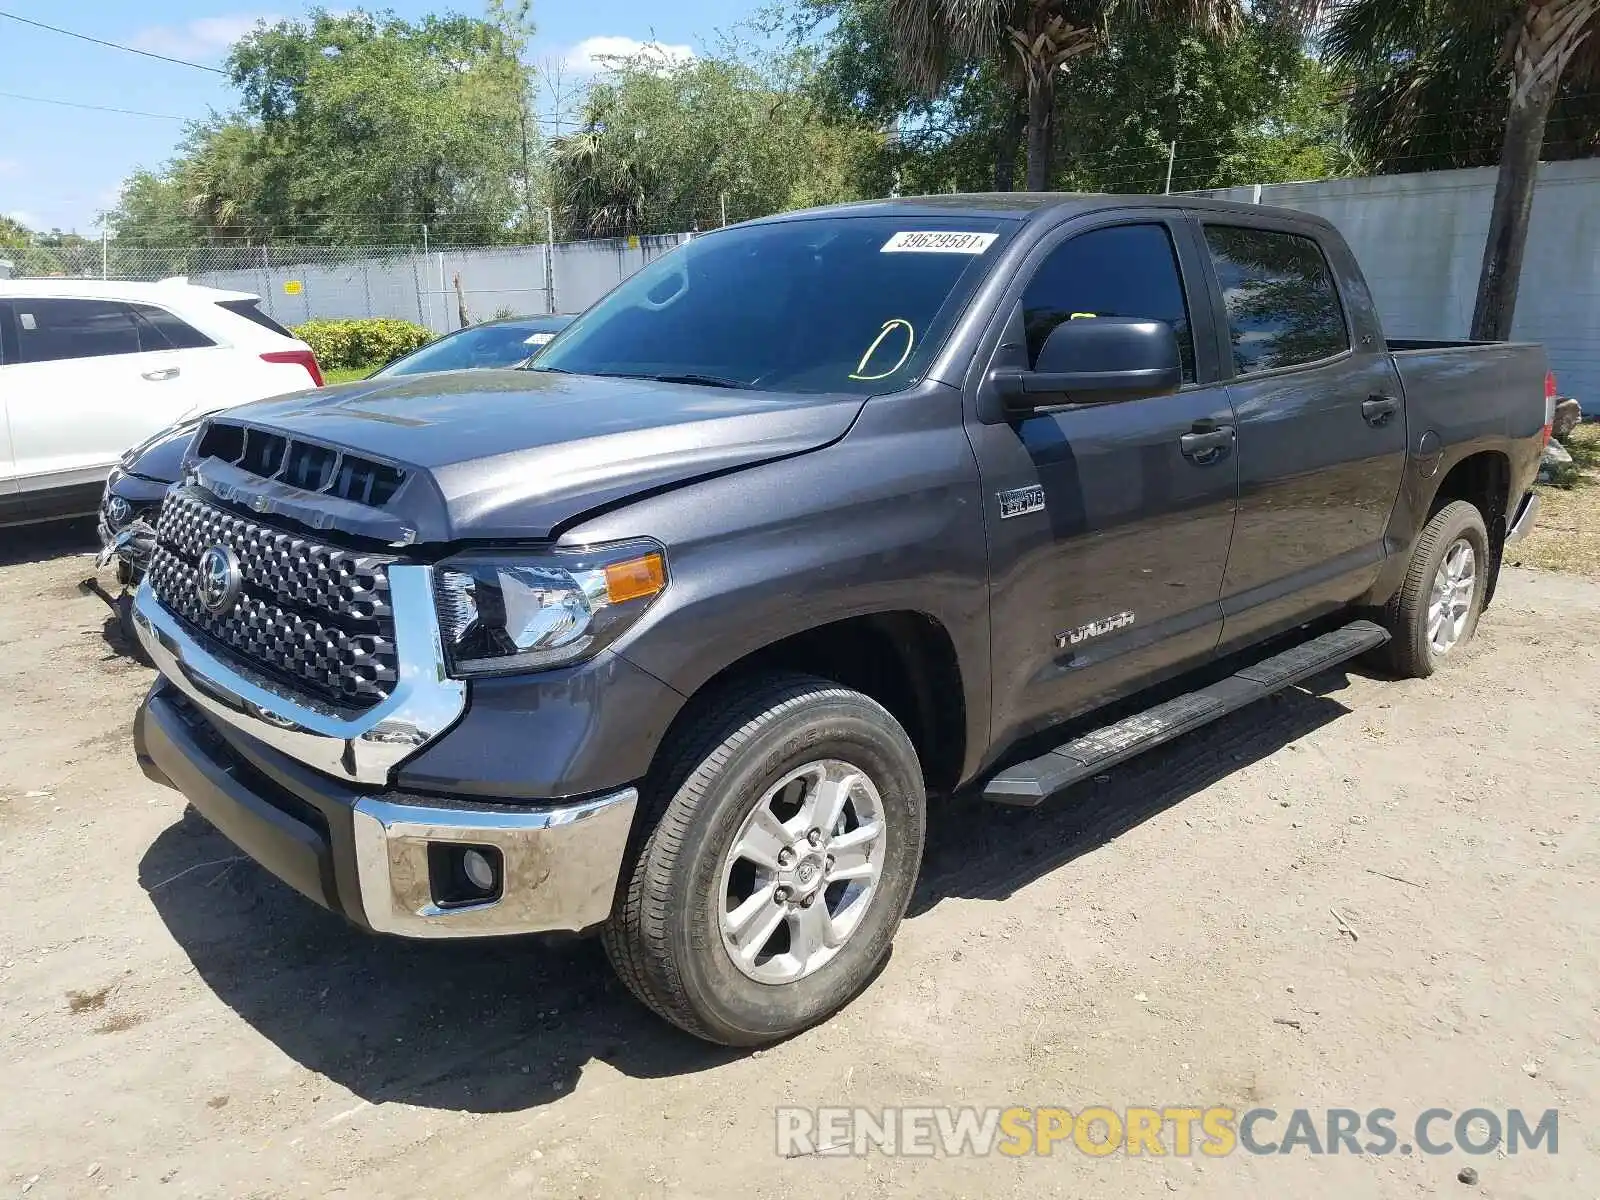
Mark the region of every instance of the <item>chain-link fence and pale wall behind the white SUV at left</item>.
<instances>
[{"instance_id":1,"label":"chain-link fence and pale wall behind the white SUV at left","mask_svg":"<svg viewBox=\"0 0 1600 1200\"><path fill-rule=\"evenodd\" d=\"M194 245L114 238L3 251L14 278L162 280L261 296L282 325L400 317L450 333L494 317L581 312L693 234L502 246Z\"/></svg>"}]
</instances>

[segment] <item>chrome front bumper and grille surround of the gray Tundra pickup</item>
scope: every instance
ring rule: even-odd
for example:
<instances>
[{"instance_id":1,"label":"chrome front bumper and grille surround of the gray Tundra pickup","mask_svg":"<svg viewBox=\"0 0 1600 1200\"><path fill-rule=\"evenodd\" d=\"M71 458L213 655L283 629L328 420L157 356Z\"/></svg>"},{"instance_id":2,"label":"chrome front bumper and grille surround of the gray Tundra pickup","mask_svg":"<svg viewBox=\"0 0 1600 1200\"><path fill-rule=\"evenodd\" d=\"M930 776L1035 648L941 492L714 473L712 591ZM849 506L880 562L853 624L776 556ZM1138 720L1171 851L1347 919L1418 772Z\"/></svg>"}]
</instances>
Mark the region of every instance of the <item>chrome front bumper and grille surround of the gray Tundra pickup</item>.
<instances>
[{"instance_id":1,"label":"chrome front bumper and grille surround of the gray Tundra pickup","mask_svg":"<svg viewBox=\"0 0 1600 1200\"><path fill-rule=\"evenodd\" d=\"M466 707L464 685L443 670L426 573L390 570L402 678L362 714L309 706L224 662L141 586L134 627L165 677L136 722L141 766L291 886L379 933L474 938L598 925L611 912L635 789L539 808L387 790L390 770ZM429 667L416 666L418 645L432 648ZM459 845L499 851L493 898L435 896L430 846Z\"/></svg>"}]
</instances>

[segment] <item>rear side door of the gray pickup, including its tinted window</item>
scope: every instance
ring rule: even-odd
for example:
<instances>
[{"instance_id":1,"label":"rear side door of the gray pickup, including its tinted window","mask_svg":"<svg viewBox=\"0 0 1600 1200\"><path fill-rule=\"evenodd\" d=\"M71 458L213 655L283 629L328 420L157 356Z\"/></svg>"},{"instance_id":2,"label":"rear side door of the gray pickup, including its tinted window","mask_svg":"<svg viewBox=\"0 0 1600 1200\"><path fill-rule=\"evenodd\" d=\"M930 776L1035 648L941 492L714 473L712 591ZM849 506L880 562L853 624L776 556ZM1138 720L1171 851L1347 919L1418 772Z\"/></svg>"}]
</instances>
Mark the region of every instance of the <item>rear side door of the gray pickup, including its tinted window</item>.
<instances>
[{"instance_id":1,"label":"rear side door of the gray pickup, including its tinted window","mask_svg":"<svg viewBox=\"0 0 1600 1200\"><path fill-rule=\"evenodd\" d=\"M1400 381L1354 259L1317 226L1198 213L1238 437L1222 586L1234 646L1378 578L1400 488Z\"/></svg>"}]
</instances>

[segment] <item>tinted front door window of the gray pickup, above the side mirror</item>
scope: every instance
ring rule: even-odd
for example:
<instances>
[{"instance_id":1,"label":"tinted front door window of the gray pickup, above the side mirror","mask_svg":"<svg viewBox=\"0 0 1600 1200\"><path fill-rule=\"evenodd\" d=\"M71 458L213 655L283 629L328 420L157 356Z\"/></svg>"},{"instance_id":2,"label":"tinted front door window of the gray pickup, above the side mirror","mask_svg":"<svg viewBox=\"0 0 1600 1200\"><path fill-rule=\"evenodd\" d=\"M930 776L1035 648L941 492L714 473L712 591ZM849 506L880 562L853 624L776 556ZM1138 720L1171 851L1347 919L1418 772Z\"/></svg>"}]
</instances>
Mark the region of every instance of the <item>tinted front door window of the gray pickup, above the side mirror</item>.
<instances>
[{"instance_id":1,"label":"tinted front door window of the gray pickup, above the side mirror","mask_svg":"<svg viewBox=\"0 0 1600 1200\"><path fill-rule=\"evenodd\" d=\"M1075 314L1166 322L1178 334L1184 382L1194 382L1195 341L1166 226L1091 229L1050 251L1022 296L1029 366L1050 331Z\"/></svg>"}]
</instances>

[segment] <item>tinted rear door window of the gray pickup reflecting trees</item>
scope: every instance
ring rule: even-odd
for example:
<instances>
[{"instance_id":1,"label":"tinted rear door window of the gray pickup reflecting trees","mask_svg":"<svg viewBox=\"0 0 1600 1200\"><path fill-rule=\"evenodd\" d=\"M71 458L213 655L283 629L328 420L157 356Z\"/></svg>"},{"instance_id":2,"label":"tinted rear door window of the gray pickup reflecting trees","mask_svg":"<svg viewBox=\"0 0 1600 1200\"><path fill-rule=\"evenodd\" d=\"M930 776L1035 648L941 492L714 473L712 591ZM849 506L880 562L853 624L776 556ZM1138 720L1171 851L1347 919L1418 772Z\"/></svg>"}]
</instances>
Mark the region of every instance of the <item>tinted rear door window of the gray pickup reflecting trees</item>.
<instances>
[{"instance_id":1,"label":"tinted rear door window of the gray pickup reflecting trees","mask_svg":"<svg viewBox=\"0 0 1600 1200\"><path fill-rule=\"evenodd\" d=\"M1309 237L1206 226L1205 240L1240 374L1314 363L1350 347L1328 259Z\"/></svg>"}]
</instances>

